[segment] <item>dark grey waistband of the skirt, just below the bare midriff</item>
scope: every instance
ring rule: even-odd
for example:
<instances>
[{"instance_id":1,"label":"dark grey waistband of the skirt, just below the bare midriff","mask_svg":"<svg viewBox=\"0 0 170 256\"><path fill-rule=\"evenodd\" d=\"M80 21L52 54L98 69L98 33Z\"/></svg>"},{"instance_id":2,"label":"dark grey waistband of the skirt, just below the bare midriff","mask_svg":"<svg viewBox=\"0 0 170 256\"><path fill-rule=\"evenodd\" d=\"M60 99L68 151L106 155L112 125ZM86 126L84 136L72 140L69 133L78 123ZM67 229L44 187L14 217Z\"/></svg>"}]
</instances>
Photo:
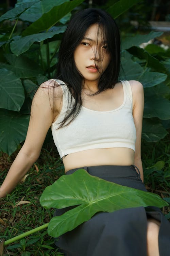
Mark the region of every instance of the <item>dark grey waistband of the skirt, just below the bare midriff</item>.
<instances>
[{"instance_id":1,"label":"dark grey waistband of the skirt, just below the bare midriff","mask_svg":"<svg viewBox=\"0 0 170 256\"><path fill-rule=\"evenodd\" d=\"M78 169L84 169L89 174L93 176L100 177L125 177L125 176L132 176L138 177L140 179L140 171L135 165L130 166L121 166L121 165L100 165L100 166L85 166L79 167L75 169L71 169L66 172L66 174L72 174L73 172L77 171ZM137 171L136 171L137 169Z\"/></svg>"}]
</instances>

